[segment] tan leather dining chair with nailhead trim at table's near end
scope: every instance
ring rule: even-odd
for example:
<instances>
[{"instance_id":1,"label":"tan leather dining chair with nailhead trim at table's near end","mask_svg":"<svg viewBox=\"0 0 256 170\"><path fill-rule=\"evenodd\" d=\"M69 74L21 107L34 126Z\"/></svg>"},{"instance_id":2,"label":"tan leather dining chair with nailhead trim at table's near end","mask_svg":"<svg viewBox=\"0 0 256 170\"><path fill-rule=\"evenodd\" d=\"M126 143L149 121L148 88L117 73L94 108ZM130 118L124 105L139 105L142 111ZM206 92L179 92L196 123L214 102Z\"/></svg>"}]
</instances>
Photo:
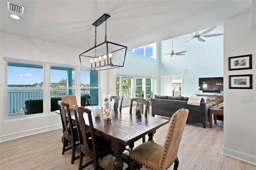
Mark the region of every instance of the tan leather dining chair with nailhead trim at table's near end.
<instances>
[{"instance_id":1,"label":"tan leather dining chair with nailhead trim at table's near end","mask_svg":"<svg viewBox=\"0 0 256 170\"><path fill-rule=\"evenodd\" d=\"M164 146L148 141L130 151L128 158L130 170L132 170L132 159L154 170L166 170L174 162L174 170L177 170L178 149L187 118L188 109L180 109L172 115Z\"/></svg>"}]
</instances>

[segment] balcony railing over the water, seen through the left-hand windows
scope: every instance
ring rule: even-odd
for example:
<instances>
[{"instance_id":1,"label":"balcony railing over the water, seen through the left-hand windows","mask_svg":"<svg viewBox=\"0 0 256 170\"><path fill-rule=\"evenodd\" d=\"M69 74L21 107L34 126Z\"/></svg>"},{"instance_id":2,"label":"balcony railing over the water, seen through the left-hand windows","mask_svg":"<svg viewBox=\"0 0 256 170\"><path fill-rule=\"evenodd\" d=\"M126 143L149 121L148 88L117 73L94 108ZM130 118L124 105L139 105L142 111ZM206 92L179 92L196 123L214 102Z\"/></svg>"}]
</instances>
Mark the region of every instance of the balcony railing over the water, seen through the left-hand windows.
<instances>
[{"instance_id":1,"label":"balcony railing over the water, seen through the left-hand windows","mask_svg":"<svg viewBox=\"0 0 256 170\"><path fill-rule=\"evenodd\" d=\"M68 89L69 90L69 89ZM52 89L51 90L51 98L57 98L66 96L68 90L59 90L59 89ZM71 94L74 95L74 89L72 90ZM90 89L81 89L81 94L90 95ZM7 113L24 113L22 107L25 107L25 101L27 100L38 100L43 99L43 91L42 90L30 90L30 91L8 91L7 92Z\"/></svg>"}]
</instances>

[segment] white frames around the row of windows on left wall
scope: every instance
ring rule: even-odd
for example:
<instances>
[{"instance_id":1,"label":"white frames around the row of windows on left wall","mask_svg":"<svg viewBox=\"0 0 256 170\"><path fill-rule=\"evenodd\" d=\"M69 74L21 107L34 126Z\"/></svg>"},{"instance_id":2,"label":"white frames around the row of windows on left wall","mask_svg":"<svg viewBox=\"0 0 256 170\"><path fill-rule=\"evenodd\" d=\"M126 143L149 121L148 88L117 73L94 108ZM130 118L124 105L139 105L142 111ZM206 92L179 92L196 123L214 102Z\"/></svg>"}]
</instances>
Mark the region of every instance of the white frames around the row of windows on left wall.
<instances>
[{"instance_id":1,"label":"white frames around the row of windows on left wall","mask_svg":"<svg viewBox=\"0 0 256 170\"><path fill-rule=\"evenodd\" d=\"M10 89L8 88L8 62L13 63L25 63L25 64L36 64L36 65L43 65L43 87L40 88L15 88ZM81 103L80 99L80 83L77 81L80 80L80 65L66 65L66 64L58 64L58 63L48 63L48 62L42 62L42 61L31 61L31 60L23 60L23 59L12 59L3 57L3 88L4 88L4 103L3 103L3 109L4 109L4 122L10 122L10 121L17 121L17 120L24 120L24 119L30 119L30 118L36 118L36 117L44 117L48 115L55 114L54 111L50 111L50 98L51 98L51 89L74 89L77 97L78 104ZM52 88L50 87L50 67L51 66L59 66L59 67L70 67L74 68L75 76L75 86L74 87L63 87L63 88ZM79 70L79 71L78 71ZM100 73L98 72L98 87L90 87L90 89L98 89L98 101L99 95L100 95ZM17 117L9 117L8 118L8 91L9 90L30 90L30 89L39 89L43 90L43 113L37 113L33 115L22 115Z\"/></svg>"}]
</instances>

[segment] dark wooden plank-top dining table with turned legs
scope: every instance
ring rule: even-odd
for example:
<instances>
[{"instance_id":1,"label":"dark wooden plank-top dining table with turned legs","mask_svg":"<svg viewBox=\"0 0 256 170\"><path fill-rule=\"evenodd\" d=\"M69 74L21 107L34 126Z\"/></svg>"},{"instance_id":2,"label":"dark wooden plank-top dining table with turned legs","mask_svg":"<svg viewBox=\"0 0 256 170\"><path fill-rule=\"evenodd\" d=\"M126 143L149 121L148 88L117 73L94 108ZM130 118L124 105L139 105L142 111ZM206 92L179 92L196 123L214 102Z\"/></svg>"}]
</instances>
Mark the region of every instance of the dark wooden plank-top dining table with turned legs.
<instances>
[{"instance_id":1,"label":"dark wooden plank-top dining table with turned legs","mask_svg":"<svg viewBox=\"0 0 256 170\"><path fill-rule=\"evenodd\" d=\"M111 142L111 150L116 157L113 163L115 170L122 170L124 166L122 153L126 146L147 134L148 140L154 141L153 136L156 130L169 122L166 119L145 117L144 115L135 115L119 110L112 110L112 119L105 120L103 119L103 108L101 117L94 117L93 106L86 108L92 111L95 134ZM55 113L60 114L60 111L55 111ZM70 113L75 125L74 110L70 109ZM84 116L84 120L86 125L89 126L88 117Z\"/></svg>"}]
</instances>

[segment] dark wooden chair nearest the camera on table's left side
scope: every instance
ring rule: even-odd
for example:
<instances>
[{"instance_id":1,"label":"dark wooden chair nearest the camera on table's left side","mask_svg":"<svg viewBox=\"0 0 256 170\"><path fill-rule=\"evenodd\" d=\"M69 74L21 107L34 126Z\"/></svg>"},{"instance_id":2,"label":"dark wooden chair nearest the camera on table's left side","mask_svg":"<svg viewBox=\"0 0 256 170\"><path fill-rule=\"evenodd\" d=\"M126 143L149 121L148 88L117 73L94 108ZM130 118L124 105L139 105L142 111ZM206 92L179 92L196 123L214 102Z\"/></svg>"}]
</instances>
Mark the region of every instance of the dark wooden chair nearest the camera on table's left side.
<instances>
[{"instance_id":1,"label":"dark wooden chair nearest the camera on table's left side","mask_svg":"<svg viewBox=\"0 0 256 170\"><path fill-rule=\"evenodd\" d=\"M85 117L88 117L89 127L86 126L84 113ZM95 135L90 109L75 105L74 115L76 119L78 138L80 141L80 160L78 170L81 170L90 164L94 165L94 170L103 170L103 168L99 166L98 159L102 159L103 157L112 154L111 142ZM86 130L90 131L90 136L88 136ZM92 158L92 160L82 165L83 156L85 154L89 158Z\"/></svg>"}]
</instances>

